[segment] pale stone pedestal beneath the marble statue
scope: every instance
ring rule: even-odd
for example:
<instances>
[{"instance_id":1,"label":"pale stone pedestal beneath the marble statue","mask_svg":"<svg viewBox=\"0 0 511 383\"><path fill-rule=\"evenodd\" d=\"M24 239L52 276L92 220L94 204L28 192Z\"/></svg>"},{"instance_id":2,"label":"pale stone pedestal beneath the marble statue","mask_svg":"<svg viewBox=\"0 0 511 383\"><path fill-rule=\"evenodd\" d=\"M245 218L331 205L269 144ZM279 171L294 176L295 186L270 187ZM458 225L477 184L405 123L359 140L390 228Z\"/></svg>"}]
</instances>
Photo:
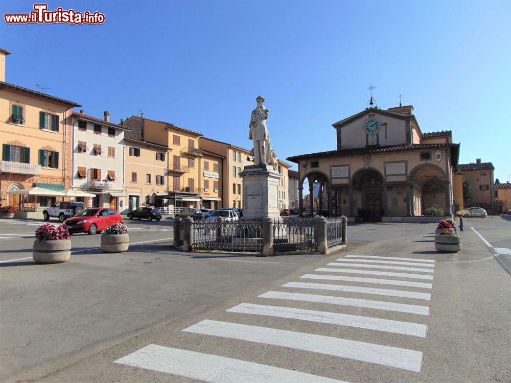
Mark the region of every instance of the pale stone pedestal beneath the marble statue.
<instances>
[{"instance_id":1,"label":"pale stone pedestal beneath the marble statue","mask_svg":"<svg viewBox=\"0 0 511 383\"><path fill-rule=\"evenodd\" d=\"M267 166L245 166L243 178L243 218L279 218L278 183L282 175Z\"/></svg>"}]
</instances>

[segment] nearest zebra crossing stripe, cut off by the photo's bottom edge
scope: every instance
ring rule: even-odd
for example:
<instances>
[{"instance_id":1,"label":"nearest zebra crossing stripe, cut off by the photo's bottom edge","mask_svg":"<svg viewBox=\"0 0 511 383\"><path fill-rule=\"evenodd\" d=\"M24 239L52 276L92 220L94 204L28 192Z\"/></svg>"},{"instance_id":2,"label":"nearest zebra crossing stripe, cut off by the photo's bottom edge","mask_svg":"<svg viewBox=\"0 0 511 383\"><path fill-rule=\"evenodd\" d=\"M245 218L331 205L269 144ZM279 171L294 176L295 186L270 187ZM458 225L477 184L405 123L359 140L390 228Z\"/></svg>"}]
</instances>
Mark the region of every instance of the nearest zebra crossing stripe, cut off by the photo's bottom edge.
<instances>
[{"instance_id":1,"label":"nearest zebra crossing stripe, cut off by the photo's bottom edge","mask_svg":"<svg viewBox=\"0 0 511 383\"><path fill-rule=\"evenodd\" d=\"M280 367L151 344L113 362L211 383L347 383Z\"/></svg>"}]
</instances>

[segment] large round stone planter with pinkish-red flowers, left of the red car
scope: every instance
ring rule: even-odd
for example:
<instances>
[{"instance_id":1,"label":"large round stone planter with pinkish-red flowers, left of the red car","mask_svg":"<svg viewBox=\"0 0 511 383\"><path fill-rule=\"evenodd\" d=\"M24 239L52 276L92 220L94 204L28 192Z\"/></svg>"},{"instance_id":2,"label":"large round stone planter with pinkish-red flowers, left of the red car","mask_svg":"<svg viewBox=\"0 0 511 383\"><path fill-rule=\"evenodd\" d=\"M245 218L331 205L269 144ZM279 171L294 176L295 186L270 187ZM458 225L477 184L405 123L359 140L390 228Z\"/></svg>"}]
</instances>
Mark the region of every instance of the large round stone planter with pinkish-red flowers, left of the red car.
<instances>
[{"instance_id":1,"label":"large round stone planter with pinkish-red flowers, left of the red car","mask_svg":"<svg viewBox=\"0 0 511 383\"><path fill-rule=\"evenodd\" d=\"M57 264L71 257L71 234L62 225L40 225L35 237L32 257L38 264Z\"/></svg>"}]
</instances>

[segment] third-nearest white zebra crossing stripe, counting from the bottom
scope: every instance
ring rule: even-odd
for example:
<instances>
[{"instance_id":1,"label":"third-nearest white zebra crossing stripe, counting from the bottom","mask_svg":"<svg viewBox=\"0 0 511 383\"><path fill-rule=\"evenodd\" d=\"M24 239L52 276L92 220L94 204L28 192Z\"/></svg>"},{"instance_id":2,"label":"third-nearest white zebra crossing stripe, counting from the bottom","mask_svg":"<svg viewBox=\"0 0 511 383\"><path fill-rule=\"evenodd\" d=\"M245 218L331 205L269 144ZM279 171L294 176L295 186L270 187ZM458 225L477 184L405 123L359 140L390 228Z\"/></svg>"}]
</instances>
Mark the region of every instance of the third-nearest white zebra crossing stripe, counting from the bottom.
<instances>
[{"instance_id":1,"label":"third-nearest white zebra crossing stripe, counting from the bottom","mask_svg":"<svg viewBox=\"0 0 511 383\"><path fill-rule=\"evenodd\" d=\"M241 303L237 306L229 308L226 311L230 313L288 318L300 321L335 324L338 326L365 328L368 330L394 332L397 334L404 334L421 338L426 338L427 331L427 326L425 324L400 322L389 319L371 317L361 317L359 315L348 315L316 310L305 310L294 307Z\"/></svg>"}]
</instances>

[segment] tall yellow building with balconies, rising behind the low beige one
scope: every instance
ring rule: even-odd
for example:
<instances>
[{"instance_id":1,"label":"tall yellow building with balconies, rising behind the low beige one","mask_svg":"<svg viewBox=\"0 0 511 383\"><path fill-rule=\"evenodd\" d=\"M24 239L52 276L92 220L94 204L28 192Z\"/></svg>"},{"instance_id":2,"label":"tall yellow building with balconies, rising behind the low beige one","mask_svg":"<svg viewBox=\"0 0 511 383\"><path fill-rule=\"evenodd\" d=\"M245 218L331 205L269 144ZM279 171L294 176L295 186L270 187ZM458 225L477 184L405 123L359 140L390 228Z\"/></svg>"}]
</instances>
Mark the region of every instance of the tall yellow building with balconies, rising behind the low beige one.
<instances>
[{"instance_id":1,"label":"tall yellow building with balconies, rising behind the low beige one","mask_svg":"<svg viewBox=\"0 0 511 383\"><path fill-rule=\"evenodd\" d=\"M200 186L200 162L203 152L199 149L201 133L170 123L131 116L121 125L130 129L125 137L168 148L172 153L166 158L165 176L168 179L166 194L156 195L160 206L170 209L200 207L203 187ZM129 164L126 164L129 179ZM154 202L156 204L156 202Z\"/></svg>"}]
</instances>

